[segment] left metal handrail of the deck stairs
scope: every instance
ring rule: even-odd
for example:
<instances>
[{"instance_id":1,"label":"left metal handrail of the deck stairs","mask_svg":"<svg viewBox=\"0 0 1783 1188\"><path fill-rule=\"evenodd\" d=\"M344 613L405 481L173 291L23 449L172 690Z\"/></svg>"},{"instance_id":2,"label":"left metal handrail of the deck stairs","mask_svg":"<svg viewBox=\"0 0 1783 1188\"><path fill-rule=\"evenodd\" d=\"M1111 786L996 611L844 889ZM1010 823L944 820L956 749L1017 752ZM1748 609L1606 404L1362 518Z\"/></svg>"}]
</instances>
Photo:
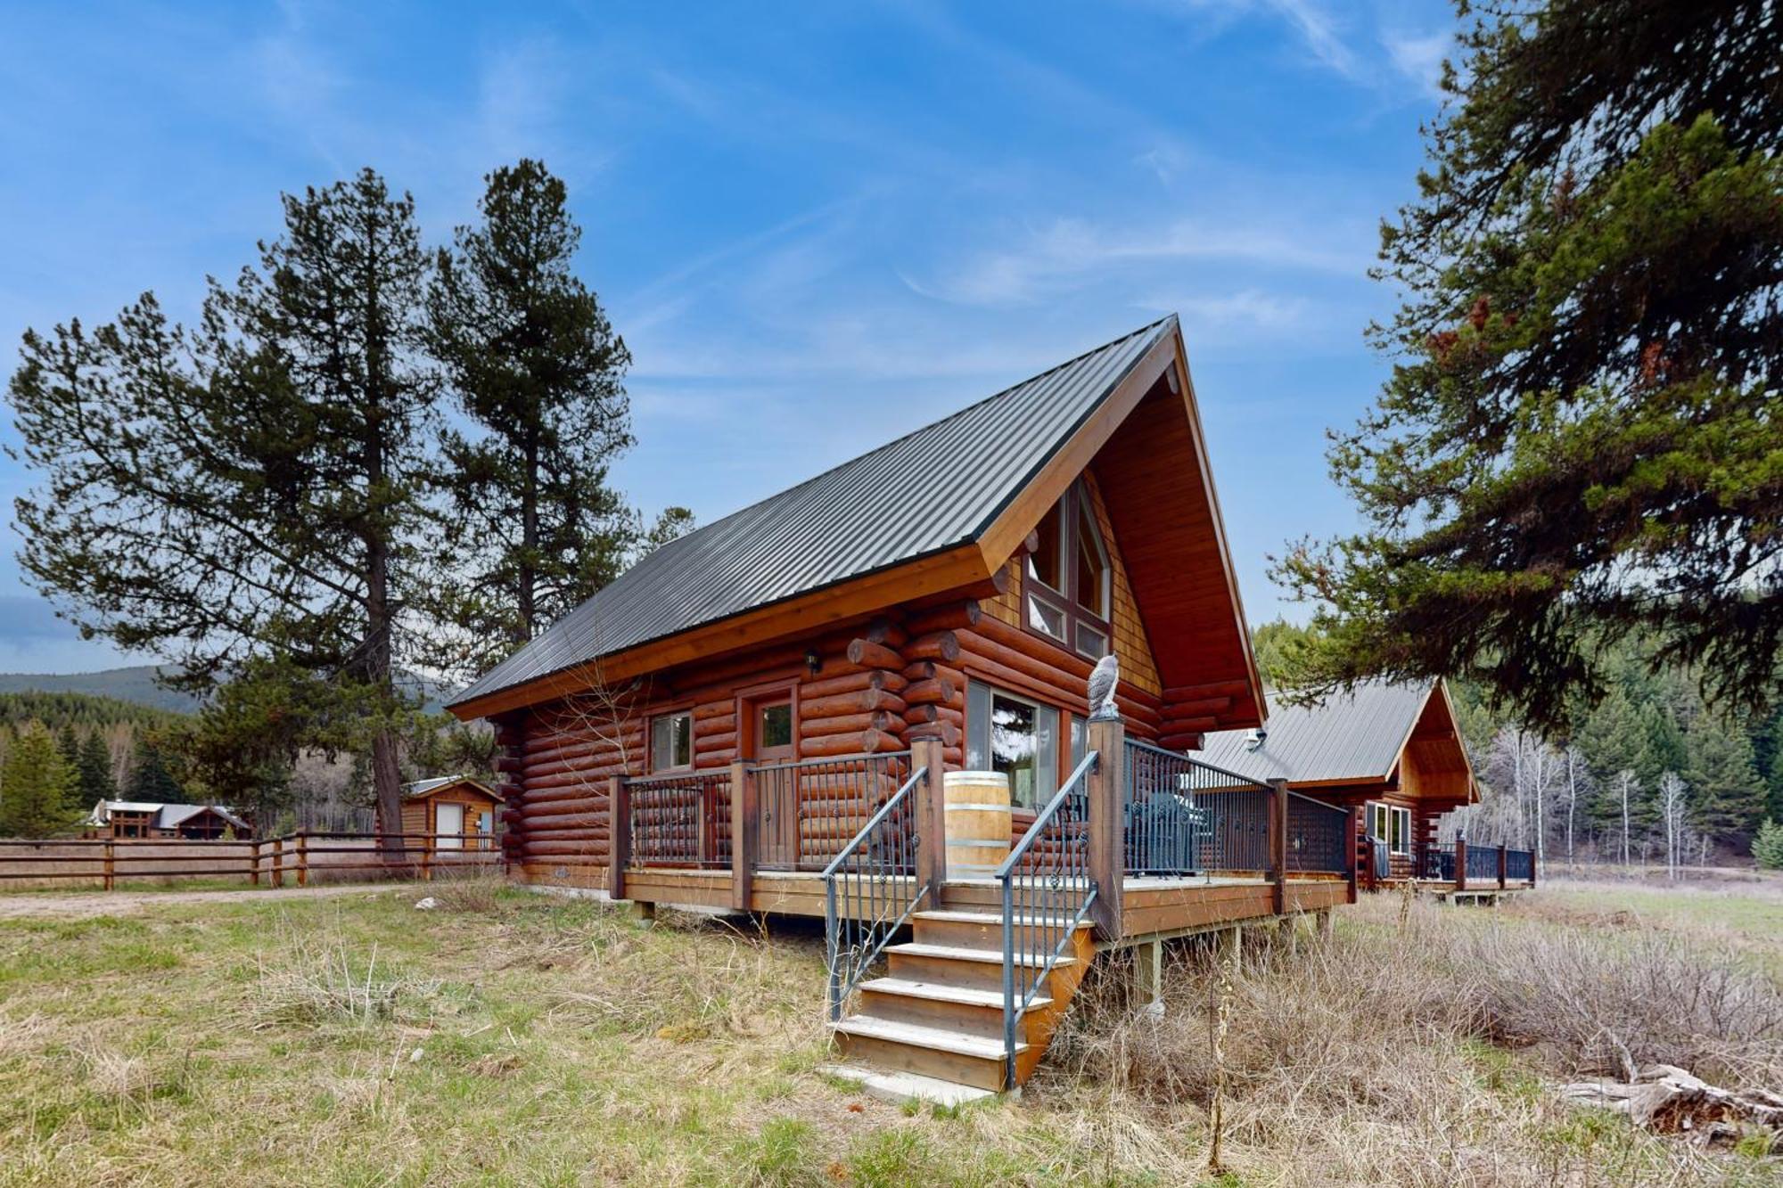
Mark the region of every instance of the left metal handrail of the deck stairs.
<instances>
[{"instance_id":1,"label":"left metal handrail of the deck stairs","mask_svg":"<svg viewBox=\"0 0 1783 1188\"><path fill-rule=\"evenodd\" d=\"M916 883L915 788L918 767L859 833L824 867L824 938L829 958L829 1019L838 1022L861 978L911 913L934 890Z\"/></svg>"}]
</instances>

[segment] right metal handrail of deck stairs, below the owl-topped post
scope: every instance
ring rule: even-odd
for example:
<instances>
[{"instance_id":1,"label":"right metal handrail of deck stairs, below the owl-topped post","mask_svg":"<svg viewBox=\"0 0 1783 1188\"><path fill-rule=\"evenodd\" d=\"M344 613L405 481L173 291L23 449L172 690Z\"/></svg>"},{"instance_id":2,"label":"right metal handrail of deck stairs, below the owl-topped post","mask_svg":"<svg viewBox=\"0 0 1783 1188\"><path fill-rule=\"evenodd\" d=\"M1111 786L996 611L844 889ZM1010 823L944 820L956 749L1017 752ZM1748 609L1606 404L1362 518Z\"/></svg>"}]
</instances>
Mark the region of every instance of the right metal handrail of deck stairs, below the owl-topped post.
<instances>
[{"instance_id":1,"label":"right metal handrail of deck stairs, below the owl-topped post","mask_svg":"<svg viewBox=\"0 0 1783 1188\"><path fill-rule=\"evenodd\" d=\"M1089 906L1091 751L997 867L1004 931L1004 1088L1015 1088L1016 1024L1047 983Z\"/></svg>"}]
</instances>

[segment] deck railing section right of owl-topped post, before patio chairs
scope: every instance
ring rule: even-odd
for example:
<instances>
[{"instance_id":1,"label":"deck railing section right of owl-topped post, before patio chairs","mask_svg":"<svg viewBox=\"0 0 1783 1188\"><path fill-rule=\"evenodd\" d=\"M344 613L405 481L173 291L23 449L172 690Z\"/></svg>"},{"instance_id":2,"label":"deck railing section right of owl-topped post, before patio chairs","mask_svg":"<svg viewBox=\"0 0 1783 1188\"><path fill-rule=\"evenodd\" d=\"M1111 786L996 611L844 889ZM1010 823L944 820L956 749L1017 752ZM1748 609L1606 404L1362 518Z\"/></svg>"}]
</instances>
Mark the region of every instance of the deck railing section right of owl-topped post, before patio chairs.
<instances>
[{"instance_id":1,"label":"deck railing section right of owl-topped post, before patio chairs","mask_svg":"<svg viewBox=\"0 0 1783 1188\"><path fill-rule=\"evenodd\" d=\"M1269 872L1268 785L1150 742L1127 740L1127 874Z\"/></svg>"}]
</instances>

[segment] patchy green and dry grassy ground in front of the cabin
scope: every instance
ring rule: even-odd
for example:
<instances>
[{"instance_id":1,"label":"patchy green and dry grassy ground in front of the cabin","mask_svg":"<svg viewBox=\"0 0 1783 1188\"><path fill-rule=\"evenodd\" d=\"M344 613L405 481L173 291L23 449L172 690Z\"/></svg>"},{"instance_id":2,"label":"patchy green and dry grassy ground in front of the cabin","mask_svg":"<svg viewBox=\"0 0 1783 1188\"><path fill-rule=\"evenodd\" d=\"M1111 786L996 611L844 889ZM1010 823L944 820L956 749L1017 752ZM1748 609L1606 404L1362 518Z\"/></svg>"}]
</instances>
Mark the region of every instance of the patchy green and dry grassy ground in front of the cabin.
<instances>
[{"instance_id":1,"label":"patchy green and dry grassy ground in front of the cabin","mask_svg":"<svg viewBox=\"0 0 1783 1188\"><path fill-rule=\"evenodd\" d=\"M642 929L592 903L430 890L437 912L408 888L0 922L0 1184L1205 1179L1209 963L1193 947L1163 1024L1134 1019L1111 967L1023 1101L906 1111L817 1072L809 926L776 922L765 944L694 917ZM1585 894L1403 920L1376 899L1341 913L1330 945L1253 944L1227 1049L1230 1174L1209 1183L1778 1183L1762 1142L1697 1154L1553 1104L1548 1081L1582 1056L1417 990L1469 960L1451 936L1598 944L1564 919L1601 910ZM1749 922L1769 933L1753 951L1783 947L1767 919ZM1762 1070L1767 1052L1738 1056Z\"/></svg>"}]
</instances>

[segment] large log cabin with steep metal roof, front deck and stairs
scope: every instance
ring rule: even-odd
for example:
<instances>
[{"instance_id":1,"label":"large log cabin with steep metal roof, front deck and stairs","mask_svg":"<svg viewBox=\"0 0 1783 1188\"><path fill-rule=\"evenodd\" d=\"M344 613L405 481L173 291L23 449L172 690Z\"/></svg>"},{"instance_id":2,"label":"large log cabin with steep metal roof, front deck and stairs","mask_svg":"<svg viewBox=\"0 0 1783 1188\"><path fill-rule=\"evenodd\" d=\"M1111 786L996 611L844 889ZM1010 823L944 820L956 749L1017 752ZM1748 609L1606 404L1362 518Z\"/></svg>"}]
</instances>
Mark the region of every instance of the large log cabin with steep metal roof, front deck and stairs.
<instances>
[{"instance_id":1,"label":"large log cabin with steep metal roof, front deck and stairs","mask_svg":"<svg viewBox=\"0 0 1783 1188\"><path fill-rule=\"evenodd\" d=\"M1286 787L1179 794L1268 705L1173 316L661 546L449 708L515 879L824 915L865 1076L1015 1088L1095 953L1355 894L1343 810L1289 869ZM947 872L961 769L1011 788L995 874Z\"/></svg>"}]
</instances>

